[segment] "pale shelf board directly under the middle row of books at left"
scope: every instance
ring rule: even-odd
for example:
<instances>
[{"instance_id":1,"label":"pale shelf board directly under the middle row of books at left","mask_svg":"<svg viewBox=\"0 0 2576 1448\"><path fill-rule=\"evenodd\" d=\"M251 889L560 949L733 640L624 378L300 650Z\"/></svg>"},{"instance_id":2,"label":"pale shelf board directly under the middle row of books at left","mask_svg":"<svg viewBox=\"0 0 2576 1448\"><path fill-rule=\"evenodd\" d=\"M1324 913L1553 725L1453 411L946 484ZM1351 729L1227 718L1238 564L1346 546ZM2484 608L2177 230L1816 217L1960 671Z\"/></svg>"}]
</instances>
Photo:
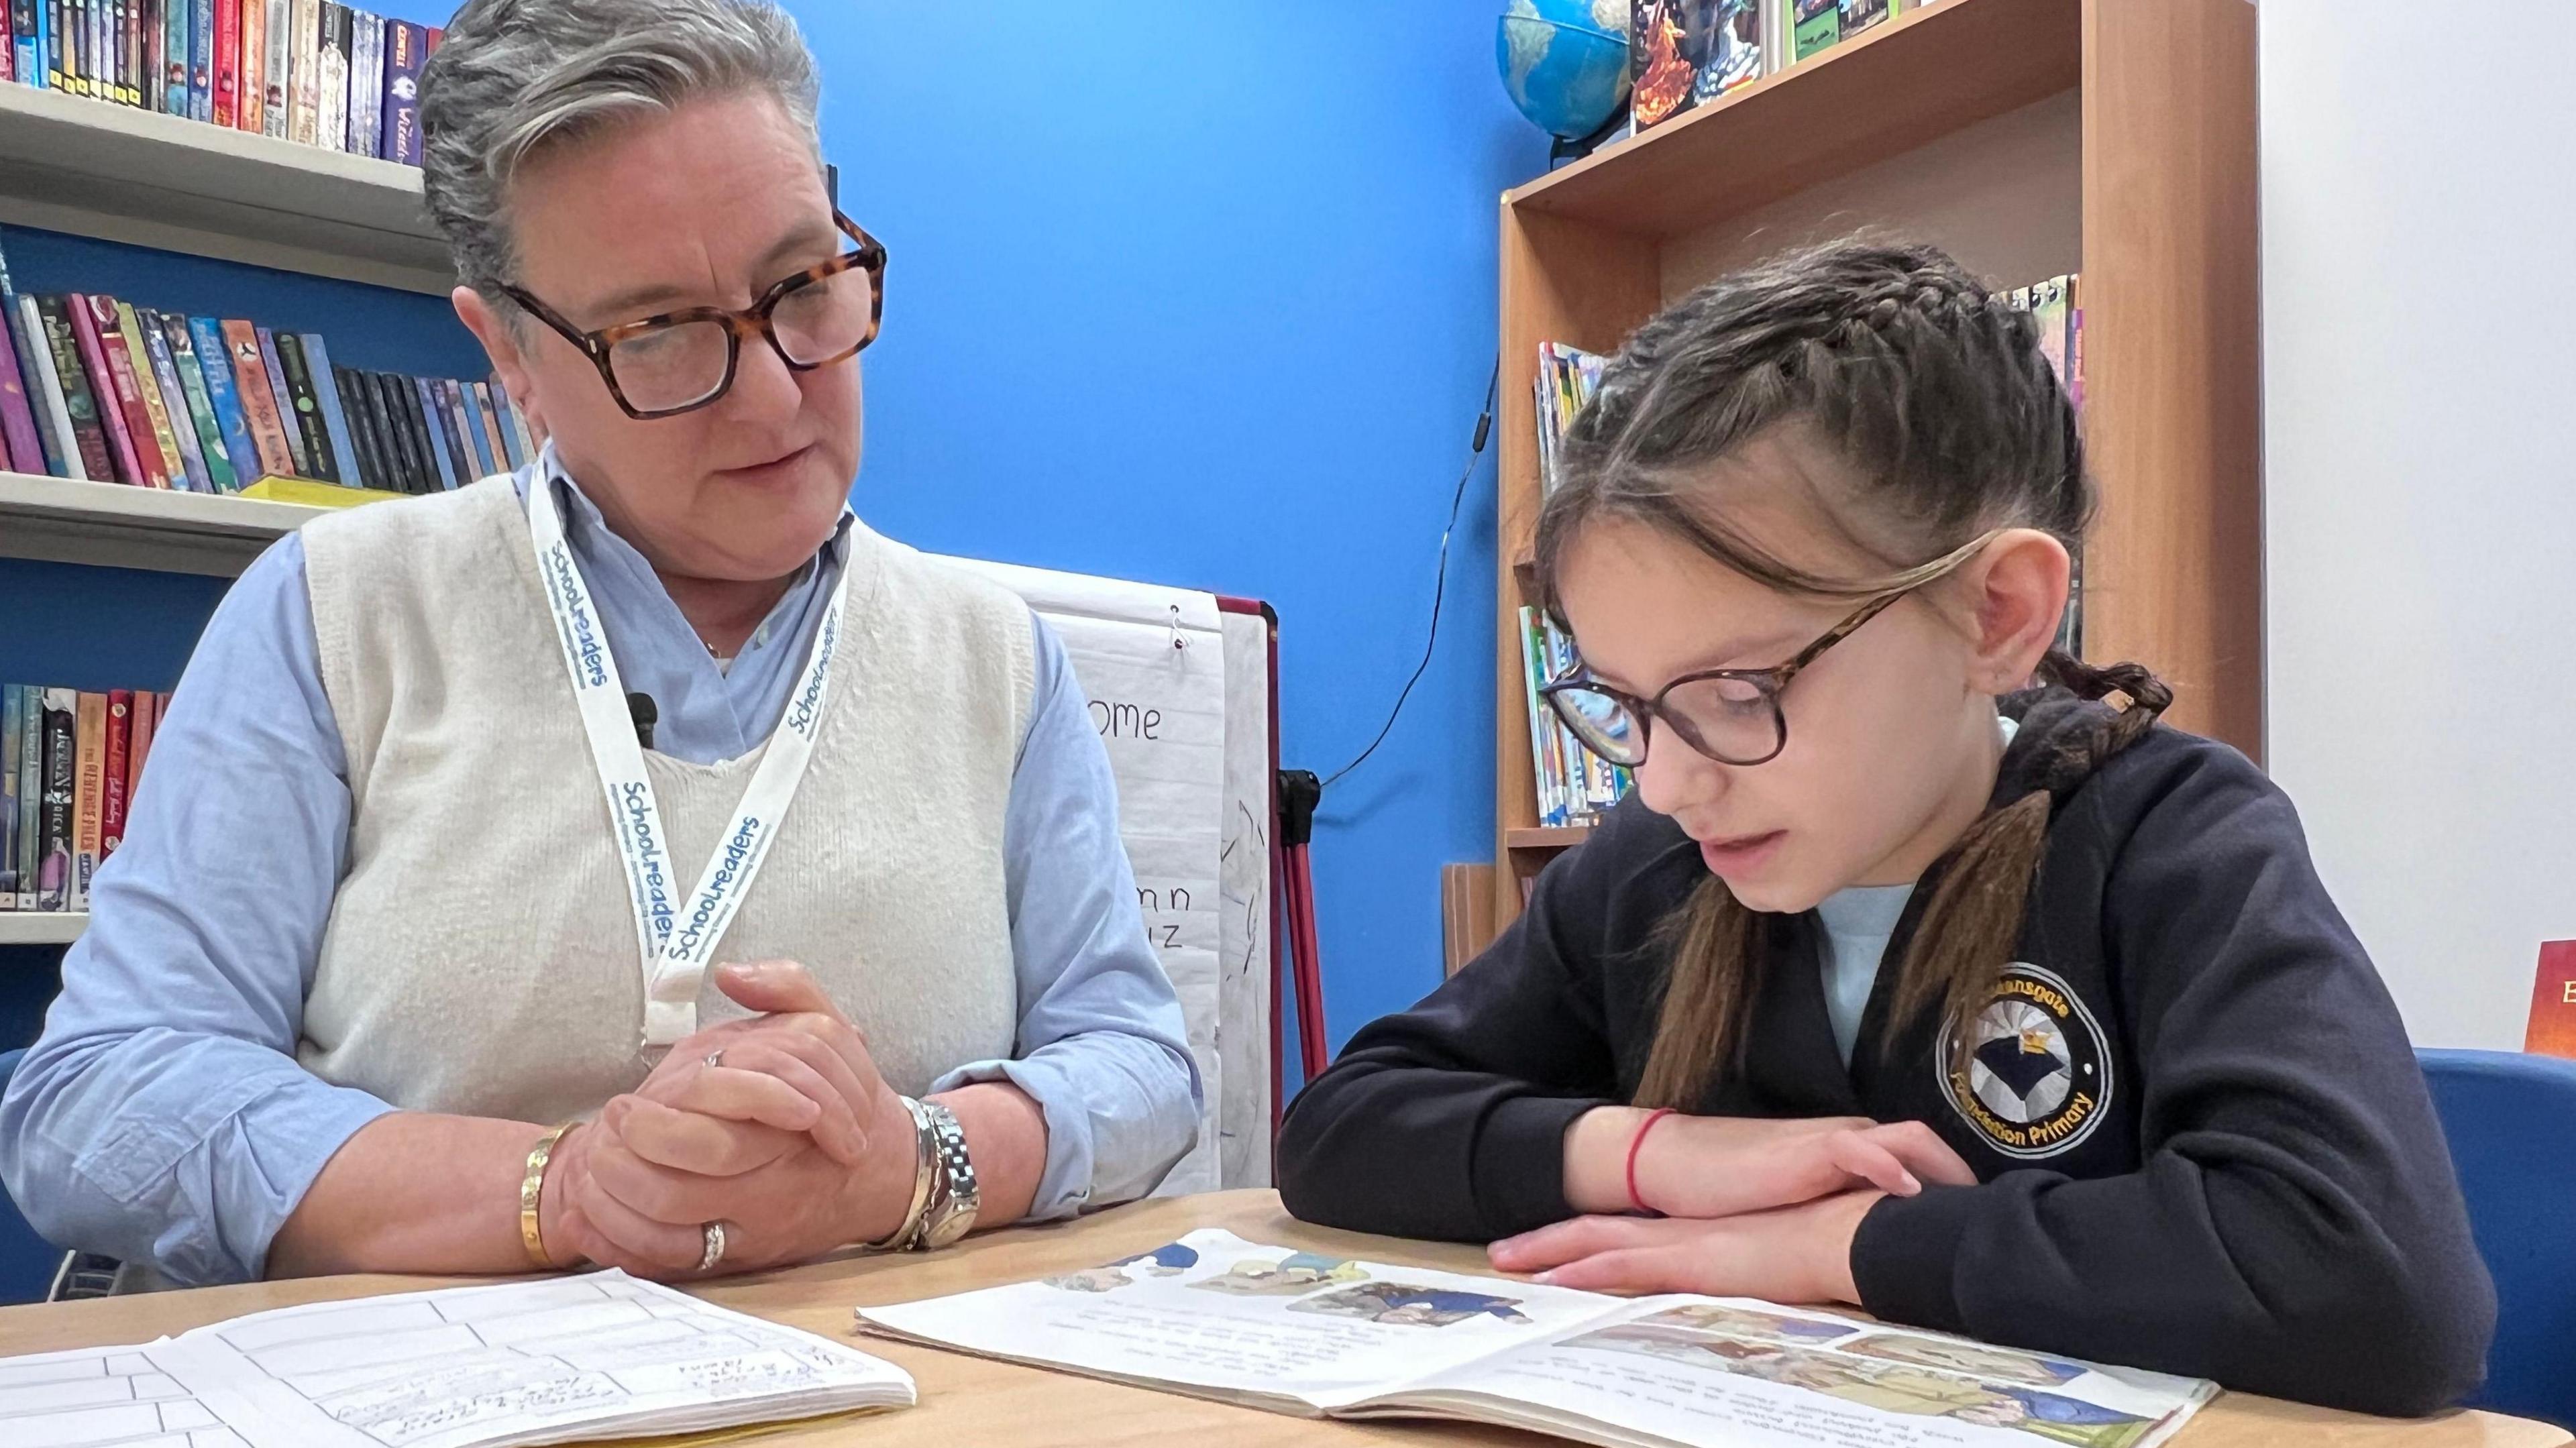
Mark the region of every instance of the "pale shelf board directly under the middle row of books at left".
<instances>
[{"instance_id":1,"label":"pale shelf board directly under the middle row of books at left","mask_svg":"<svg viewBox=\"0 0 2576 1448\"><path fill-rule=\"evenodd\" d=\"M237 577L260 549L330 513L0 472L0 557Z\"/></svg>"}]
</instances>

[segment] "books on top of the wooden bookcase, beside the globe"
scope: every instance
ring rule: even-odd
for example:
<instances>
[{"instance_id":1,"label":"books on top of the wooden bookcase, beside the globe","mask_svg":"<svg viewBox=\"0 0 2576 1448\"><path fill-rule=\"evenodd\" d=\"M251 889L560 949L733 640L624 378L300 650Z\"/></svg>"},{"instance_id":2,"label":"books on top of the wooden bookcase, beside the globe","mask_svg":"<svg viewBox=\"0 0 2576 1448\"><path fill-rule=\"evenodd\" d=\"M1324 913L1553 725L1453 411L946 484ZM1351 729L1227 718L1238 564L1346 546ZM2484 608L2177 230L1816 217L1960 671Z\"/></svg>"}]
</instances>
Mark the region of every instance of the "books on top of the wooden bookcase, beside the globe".
<instances>
[{"instance_id":1,"label":"books on top of the wooden bookcase, beside the globe","mask_svg":"<svg viewBox=\"0 0 2576 1448\"><path fill-rule=\"evenodd\" d=\"M1628 10L1638 131L1935 0L1636 0Z\"/></svg>"}]
</instances>

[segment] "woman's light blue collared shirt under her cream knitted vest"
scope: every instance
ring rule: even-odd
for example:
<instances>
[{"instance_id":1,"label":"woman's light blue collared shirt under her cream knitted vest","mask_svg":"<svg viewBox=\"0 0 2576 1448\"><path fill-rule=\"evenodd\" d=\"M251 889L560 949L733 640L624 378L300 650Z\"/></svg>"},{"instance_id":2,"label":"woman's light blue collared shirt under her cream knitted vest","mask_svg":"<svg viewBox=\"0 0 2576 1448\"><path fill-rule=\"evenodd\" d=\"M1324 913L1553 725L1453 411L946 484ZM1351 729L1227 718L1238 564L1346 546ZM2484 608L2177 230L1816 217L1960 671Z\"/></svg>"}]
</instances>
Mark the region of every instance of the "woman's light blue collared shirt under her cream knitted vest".
<instances>
[{"instance_id":1,"label":"woman's light blue collared shirt under her cream knitted vest","mask_svg":"<svg viewBox=\"0 0 2576 1448\"><path fill-rule=\"evenodd\" d=\"M652 564L580 490L556 495L618 672L657 703L654 750L716 763L757 747L804 667L850 520L719 670ZM1149 1193L1195 1139L1203 1087L1144 935L1108 752L1064 644L1033 624L1036 703L1002 824L1018 1054L933 1090L1007 1080L1036 1098L1046 1172L1030 1216L1048 1219ZM0 1098L0 1180L36 1232L183 1283L258 1278L322 1165L392 1110L296 1064L348 827L304 546L286 536L188 660L44 1038Z\"/></svg>"}]
</instances>

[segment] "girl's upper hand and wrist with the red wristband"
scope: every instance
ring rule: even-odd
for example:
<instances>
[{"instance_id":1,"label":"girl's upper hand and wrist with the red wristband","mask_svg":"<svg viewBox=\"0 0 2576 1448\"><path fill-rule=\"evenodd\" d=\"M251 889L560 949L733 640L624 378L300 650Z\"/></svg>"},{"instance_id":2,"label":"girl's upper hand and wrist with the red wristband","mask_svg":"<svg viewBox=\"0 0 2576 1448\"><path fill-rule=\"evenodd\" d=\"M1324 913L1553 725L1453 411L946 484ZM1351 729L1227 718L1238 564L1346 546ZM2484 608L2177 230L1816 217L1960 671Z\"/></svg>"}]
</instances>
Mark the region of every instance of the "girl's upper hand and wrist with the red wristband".
<instances>
[{"instance_id":1,"label":"girl's upper hand and wrist with the red wristband","mask_svg":"<svg viewBox=\"0 0 2576 1448\"><path fill-rule=\"evenodd\" d=\"M1643 1123L1636 1108L1602 1108L1574 1123L1566 1198L1577 1211L1636 1206L1628 1149ZM1917 1196L1924 1183L1976 1185L1976 1172L1922 1121L1672 1116L1636 1152L1638 1203L1664 1216L1736 1216L1862 1188Z\"/></svg>"}]
</instances>

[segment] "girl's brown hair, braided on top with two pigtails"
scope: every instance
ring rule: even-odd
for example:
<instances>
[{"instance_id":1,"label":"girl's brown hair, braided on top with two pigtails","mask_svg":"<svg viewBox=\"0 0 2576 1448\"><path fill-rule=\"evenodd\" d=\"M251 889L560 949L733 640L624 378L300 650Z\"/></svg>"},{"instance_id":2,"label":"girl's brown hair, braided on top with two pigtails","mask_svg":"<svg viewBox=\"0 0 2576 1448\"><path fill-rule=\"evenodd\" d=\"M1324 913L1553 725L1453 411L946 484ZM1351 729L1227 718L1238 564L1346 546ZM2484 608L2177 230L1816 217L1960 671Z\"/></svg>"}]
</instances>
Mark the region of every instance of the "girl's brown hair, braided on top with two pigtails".
<instances>
[{"instance_id":1,"label":"girl's brown hair, braided on top with two pigtails","mask_svg":"<svg viewBox=\"0 0 2576 1448\"><path fill-rule=\"evenodd\" d=\"M1814 502L1886 559L1883 575L1821 577L1728 523L1721 487L1741 482L1713 474L1754 441L1842 464L1826 472L1850 484L1819 484ZM2092 510L2084 441L2032 317L1937 247L1834 242L1692 291L1610 358L1538 515L1538 585L1564 618L1566 549L1597 520L1625 520L1783 593L1860 600L1922 582L1929 562L1991 528L2040 528L2081 551ZM2138 665L2092 667L2050 649L2040 672L2084 698L2128 698L2058 745L2043 770L2058 781L2128 747L2172 703ZM2020 943L2048 809L2050 794L2035 788L1978 819L1945 858L1896 976L1891 1041L1937 1005L1950 1069L1965 1072L1976 1013ZM1692 891L1667 928L1672 966L1641 1105L1690 1110L1739 1059L1775 925L1716 876Z\"/></svg>"}]
</instances>

